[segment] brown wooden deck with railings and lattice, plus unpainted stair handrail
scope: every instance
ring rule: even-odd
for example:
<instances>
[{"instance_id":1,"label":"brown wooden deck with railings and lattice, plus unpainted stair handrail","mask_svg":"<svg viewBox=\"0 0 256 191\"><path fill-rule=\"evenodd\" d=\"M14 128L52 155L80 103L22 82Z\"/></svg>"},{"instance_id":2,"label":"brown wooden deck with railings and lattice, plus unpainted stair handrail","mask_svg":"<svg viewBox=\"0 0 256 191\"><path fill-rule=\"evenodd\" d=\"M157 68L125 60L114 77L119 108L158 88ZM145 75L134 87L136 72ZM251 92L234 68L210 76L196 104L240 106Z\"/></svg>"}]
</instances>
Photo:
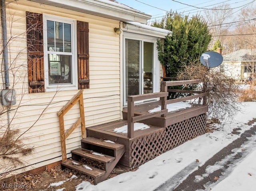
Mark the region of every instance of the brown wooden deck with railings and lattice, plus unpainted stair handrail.
<instances>
[{"instance_id":1,"label":"brown wooden deck with railings and lattice, plus unpainted stair handrail","mask_svg":"<svg viewBox=\"0 0 256 191\"><path fill-rule=\"evenodd\" d=\"M124 155L119 163L134 169L139 165L155 158L156 156L176 147L180 144L202 135L206 131L206 86L201 91L168 89L170 86L201 83L202 80L189 81L163 81L161 92L144 95L128 96L127 107L123 108L123 119L106 124L100 124L86 128L87 138L110 140L124 145ZM168 100L168 92L186 93L188 96ZM134 104L137 101L148 99L160 99L159 101ZM168 112L169 104L186 100L202 100L202 104L193 104L192 107ZM77 122L64 132L63 116L74 104L82 102L82 93L78 93L70 102L58 112L60 118L60 136L62 141L62 158L66 158L65 139L81 124L82 136L85 136L84 118L80 116ZM83 106L80 104L80 115L84 114ZM160 106L159 111L150 113L149 110ZM136 122L142 122L150 126L144 130L135 130ZM114 129L127 125L127 133L117 133Z\"/></svg>"}]
</instances>

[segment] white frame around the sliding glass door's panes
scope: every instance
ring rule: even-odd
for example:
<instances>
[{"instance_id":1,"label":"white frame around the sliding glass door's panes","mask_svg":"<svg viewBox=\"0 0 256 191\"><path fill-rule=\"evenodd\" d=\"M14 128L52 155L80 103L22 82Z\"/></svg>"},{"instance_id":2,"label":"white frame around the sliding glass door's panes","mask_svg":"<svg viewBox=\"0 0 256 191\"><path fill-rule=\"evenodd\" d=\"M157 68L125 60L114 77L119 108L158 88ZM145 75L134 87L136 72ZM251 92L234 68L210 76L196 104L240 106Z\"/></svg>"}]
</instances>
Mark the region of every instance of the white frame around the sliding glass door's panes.
<instances>
[{"instance_id":1,"label":"white frame around the sliding glass door's panes","mask_svg":"<svg viewBox=\"0 0 256 191\"><path fill-rule=\"evenodd\" d=\"M143 68L143 42L154 43L154 69L153 69L153 93L160 91L160 61L158 60L158 51L157 51L157 38L150 37L146 35L138 35L134 33L125 33L123 35L123 106L127 105L126 102L126 67L125 67L125 39L132 39L140 41L140 68ZM140 69L140 78L143 76L142 70ZM142 83L143 85L143 83ZM140 87L140 92L142 92L142 87ZM143 92L142 92L143 94ZM156 99L154 99L156 100ZM157 98L159 100L159 98ZM141 103L148 100L142 100L137 103Z\"/></svg>"}]
</instances>

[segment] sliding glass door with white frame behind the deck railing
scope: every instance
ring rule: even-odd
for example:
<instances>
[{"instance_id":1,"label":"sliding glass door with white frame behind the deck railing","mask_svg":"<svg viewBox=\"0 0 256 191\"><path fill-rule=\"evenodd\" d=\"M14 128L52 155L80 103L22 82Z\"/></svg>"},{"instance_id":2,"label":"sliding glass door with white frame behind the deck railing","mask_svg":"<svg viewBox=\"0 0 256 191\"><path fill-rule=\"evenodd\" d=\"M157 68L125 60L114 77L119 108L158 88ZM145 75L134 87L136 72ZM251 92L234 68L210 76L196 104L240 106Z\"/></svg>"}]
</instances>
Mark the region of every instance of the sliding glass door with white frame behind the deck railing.
<instances>
[{"instance_id":1,"label":"sliding glass door with white frame behind the deck railing","mask_svg":"<svg viewBox=\"0 0 256 191\"><path fill-rule=\"evenodd\" d=\"M124 105L127 96L156 91L156 65L155 41L124 37Z\"/></svg>"}]
</instances>

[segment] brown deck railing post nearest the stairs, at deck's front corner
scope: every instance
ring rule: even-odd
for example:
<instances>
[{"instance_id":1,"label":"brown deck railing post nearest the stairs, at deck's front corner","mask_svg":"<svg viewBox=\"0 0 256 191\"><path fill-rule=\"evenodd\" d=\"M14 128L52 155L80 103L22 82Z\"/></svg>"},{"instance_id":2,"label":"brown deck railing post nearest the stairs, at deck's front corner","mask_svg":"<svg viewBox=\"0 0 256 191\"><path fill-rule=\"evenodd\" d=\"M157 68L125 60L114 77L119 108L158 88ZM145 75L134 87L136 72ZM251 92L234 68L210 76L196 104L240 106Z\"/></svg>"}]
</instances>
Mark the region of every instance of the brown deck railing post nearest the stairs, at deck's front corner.
<instances>
[{"instance_id":1,"label":"brown deck railing post nearest the stairs, at deck's front corner","mask_svg":"<svg viewBox=\"0 0 256 191\"><path fill-rule=\"evenodd\" d=\"M127 103L127 122L128 122L128 138L134 138L134 122L132 121L132 117L134 117L134 101L132 97L128 96L128 103Z\"/></svg>"}]
</instances>

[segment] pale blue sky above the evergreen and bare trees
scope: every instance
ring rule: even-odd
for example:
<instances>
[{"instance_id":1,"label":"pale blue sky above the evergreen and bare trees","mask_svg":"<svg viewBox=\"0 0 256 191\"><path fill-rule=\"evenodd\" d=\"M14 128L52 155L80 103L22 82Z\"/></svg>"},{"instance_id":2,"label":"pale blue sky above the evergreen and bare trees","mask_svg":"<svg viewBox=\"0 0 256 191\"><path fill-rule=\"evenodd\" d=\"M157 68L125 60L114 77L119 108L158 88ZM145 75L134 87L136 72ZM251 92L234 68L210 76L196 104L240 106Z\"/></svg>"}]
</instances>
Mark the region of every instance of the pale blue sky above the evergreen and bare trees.
<instances>
[{"instance_id":1,"label":"pale blue sky above the evergreen and bare trees","mask_svg":"<svg viewBox=\"0 0 256 191\"><path fill-rule=\"evenodd\" d=\"M152 16L151 21L160 20L167 11L177 11L184 15L203 15L203 10L220 6L220 4L230 4L234 12L239 11L243 6L254 0L116 0L122 4L140 10ZM254 4L256 4L254 2ZM249 6L251 6L250 4Z\"/></svg>"}]
</instances>

